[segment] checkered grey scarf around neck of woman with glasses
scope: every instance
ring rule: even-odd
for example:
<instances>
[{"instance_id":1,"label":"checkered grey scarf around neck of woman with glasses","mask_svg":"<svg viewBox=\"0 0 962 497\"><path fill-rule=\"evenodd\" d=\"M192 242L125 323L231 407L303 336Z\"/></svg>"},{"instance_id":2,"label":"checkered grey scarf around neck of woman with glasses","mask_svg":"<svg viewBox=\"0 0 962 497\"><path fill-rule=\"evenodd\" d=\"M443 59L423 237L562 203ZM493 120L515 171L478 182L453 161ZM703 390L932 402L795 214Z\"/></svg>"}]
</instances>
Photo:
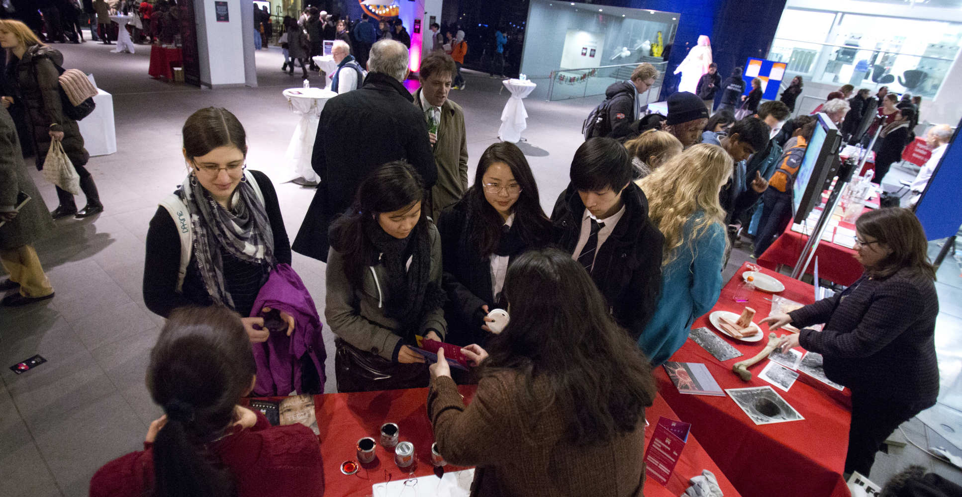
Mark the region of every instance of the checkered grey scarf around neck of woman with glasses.
<instances>
[{"instance_id":1,"label":"checkered grey scarf around neck of woman with glasses","mask_svg":"<svg viewBox=\"0 0 962 497\"><path fill-rule=\"evenodd\" d=\"M244 178L256 181L246 173ZM274 235L270 231L267 212L258 200L254 187L247 181L234 189L231 208L227 210L200 182L191 182L190 179L188 176L179 193L190 211L197 268L214 302L234 309L234 299L224 282L221 250L241 261L266 266L266 281L267 273L277 264L274 259Z\"/></svg>"}]
</instances>

